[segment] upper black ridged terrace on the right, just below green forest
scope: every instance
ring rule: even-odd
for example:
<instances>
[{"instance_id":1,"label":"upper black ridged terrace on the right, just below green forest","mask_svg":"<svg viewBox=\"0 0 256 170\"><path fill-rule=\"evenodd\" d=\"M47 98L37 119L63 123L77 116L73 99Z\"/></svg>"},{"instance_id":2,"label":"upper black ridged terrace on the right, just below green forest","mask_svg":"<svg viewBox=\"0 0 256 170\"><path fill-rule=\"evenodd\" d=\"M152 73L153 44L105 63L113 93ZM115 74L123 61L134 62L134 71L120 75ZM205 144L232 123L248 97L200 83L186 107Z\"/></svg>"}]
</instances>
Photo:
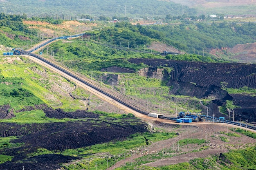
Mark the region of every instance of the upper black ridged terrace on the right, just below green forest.
<instances>
[{"instance_id":1,"label":"upper black ridged terrace on the right, just below green forest","mask_svg":"<svg viewBox=\"0 0 256 170\"><path fill-rule=\"evenodd\" d=\"M153 68L167 66L173 68L170 83L193 82L200 87L215 85L221 87L221 82L227 88L256 88L256 64L238 63L202 63L184 62L161 59L130 59L131 63L143 62Z\"/></svg>"}]
</instances>

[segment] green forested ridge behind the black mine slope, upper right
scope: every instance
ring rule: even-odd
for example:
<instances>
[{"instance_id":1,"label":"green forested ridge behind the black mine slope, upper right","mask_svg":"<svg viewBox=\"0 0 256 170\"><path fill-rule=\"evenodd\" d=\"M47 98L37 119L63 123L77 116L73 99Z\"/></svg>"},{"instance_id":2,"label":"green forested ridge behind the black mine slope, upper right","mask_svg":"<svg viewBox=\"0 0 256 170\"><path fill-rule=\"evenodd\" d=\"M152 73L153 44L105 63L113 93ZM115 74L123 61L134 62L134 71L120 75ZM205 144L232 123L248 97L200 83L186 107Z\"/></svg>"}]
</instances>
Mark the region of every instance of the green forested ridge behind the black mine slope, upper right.
<instances>
[{"instance_id":1,"label":"green forested ridge behind the black mine slope, upper right","mask_svg":"<svg viewBox=\"0 0 256 170\"><path fill-rule=\"evenodd\" d=\"M207 54L211 49L230 48L236 44L253 43L256 41L256 24L238 23L199 23L167 25L167 26L143 26L132 25L128 22L120 22L114 27L106 28L101 32L89 33L99 37L101 41L114 42L122 46L143 48L144 45L157 40L186 53Z\"/></svg>"}]
</instances>

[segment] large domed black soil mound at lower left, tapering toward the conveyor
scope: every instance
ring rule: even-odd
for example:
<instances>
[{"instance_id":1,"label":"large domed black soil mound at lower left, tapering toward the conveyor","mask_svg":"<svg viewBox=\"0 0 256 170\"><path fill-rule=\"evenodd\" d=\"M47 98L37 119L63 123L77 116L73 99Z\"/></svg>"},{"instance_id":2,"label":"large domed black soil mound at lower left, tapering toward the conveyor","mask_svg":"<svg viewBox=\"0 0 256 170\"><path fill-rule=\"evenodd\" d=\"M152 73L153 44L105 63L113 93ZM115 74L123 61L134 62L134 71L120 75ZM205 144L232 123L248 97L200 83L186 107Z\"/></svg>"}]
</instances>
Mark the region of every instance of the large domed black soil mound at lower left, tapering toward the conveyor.
<instances>
[{"instance_id":1,"label":"large domed black soil mound at lower left, tapering toward the conveyor","mask_svg":"<svg viewBox=\"0 0 256 170\"><path fill-rule=\"evenodd\" d=\"M14 143L25 142L31 147L40 146L48 150L64 150L91 146L113 139L122 139L136 132L145 132L144 125L132 126L128 122L111 123L113 120L70 121L65 123L50 123L38 126L31 135L14 140ZM95 122L95 123L94 123ZM42 130L41 130L42 129ZM54 144L54 145L53 145Z\"/></svg>"}]
</instances>

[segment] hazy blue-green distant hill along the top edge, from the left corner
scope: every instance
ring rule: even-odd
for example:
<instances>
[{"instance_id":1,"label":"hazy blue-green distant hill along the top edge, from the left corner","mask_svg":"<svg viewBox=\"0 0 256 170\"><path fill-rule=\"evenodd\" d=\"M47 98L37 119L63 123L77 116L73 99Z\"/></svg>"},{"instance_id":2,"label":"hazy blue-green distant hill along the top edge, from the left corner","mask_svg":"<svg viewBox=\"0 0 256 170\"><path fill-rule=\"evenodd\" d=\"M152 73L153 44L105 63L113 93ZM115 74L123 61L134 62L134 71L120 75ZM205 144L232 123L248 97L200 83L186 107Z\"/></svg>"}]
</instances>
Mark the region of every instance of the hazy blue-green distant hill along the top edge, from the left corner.
<instances>
[{"instance_id":1,"label":"hazy blue-green distant hill along the top edge, from the left corner","mask_svg":"<svg viewBox=\"0 0 256 170\"><path fill-rule=\"evenodd\" d=\"M195 9L182 4L159 0L4 0L0 1L0 12L28 15L91 15L135 18L164 18L167 14L195 15ZM17 5L18 4L18 5Z\"/></svg>"}]
</instances>

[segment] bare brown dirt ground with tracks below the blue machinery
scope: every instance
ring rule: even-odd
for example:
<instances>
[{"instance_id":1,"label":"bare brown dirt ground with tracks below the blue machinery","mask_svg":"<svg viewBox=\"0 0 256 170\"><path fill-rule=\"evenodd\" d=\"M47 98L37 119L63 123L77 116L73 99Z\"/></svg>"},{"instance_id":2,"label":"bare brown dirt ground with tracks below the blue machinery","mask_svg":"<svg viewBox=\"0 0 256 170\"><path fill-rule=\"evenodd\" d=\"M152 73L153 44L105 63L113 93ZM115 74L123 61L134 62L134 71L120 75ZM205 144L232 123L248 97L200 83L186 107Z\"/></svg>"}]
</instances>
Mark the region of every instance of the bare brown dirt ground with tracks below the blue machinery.
<instances>
[{"instance_id":1,"label":"bare brown dirt ground with tracks below the blue machinery","mask_svg":"<svg viewBox=\"0 0 256 170\"><path fill-rule=\"evenodd\" d=\"M152 121L152 120L151 120ZM161 121L158 119L157 121ZM167 122L169 124L176 124L174 121ZM168 127L167 127L168 128ZM247 137L242 135L242 137L228 137L227 135L221 134L219 135L219 131L221 132L232 132L231 131L232 125L229 125L227 128L227 124L220 124L220 123L202 123L202 124L183 124L182 128L177 129L179 132L179 136L173 139L167 139L164 141L158 141L156 143L150 144L145 146L143 149L144 160L145 156L149 154L156 154L158 151L159 155L162 154L162 151L165 150L165 154L169 154L169 158L164 158L153 161L150 163L146 163L142 166L150 166L150 167L157 167L157 166L168 166L172 164L182 163L182 162L189 162L191 159L195 158L205 158L211 155L220 155L220 153L228 152L230 149L239 149L244 148L245 144L255 144L256 139ZM238 128L238 126L236 126ZM173 127L169 128L172 131L175 131ZM215 136L215 137L213 137ZM224 142L221 141L220 137L227 137L230 141ZM182 139L207 139L207 143L202 145L198 144L189 144L184 146L178 146L178 141ZM208 147L205 150L198 151L198 152L191 152L192 150L198 150L202 146ZM173 153L167 153L166 150L173 150ZM130 153L129 153L130 154ZM171 157L173 155L173 157ZM107 170L114 170L119 166L124 166L126 163L130 164L131 162L135 162L135 159L141 158L141 148L139 151L132 153L131 157L126 157L126 161L121 160L116 162L115 166L108 168ZM150 158L149 158L150 160Z\"/></svg>"}]
</instances>

